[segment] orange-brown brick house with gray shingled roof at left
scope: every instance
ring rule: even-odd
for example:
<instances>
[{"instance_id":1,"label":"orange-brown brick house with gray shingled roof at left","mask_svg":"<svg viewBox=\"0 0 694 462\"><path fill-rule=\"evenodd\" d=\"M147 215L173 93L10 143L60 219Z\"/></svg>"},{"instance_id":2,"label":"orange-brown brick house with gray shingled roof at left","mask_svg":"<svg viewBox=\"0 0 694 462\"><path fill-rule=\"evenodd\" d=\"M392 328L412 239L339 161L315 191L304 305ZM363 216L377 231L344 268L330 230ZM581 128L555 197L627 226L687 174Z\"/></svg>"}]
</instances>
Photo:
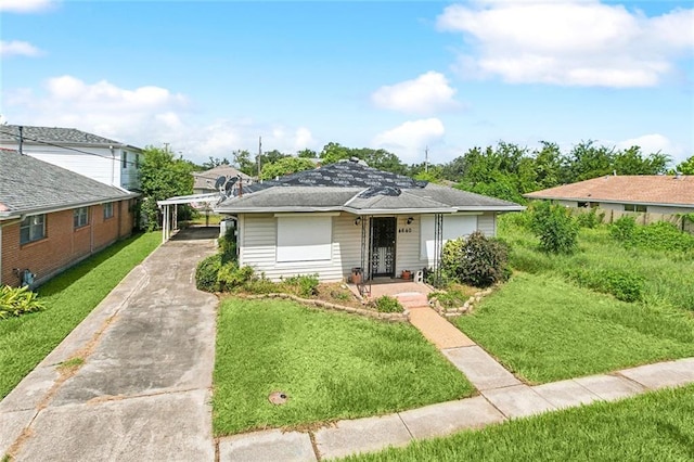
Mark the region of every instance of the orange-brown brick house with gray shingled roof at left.
<instances>
[{"instance_id":1,"label":"orange-brown brick house with gray shingled roof at left","mask_svg":"<svg viewBox=\"0 0 694 462\"><path fill-rule=\"evenodd\" d=\"M130 235L137 196L0 149L0 285L39 285Z\"/></svg>"}]
</instances>

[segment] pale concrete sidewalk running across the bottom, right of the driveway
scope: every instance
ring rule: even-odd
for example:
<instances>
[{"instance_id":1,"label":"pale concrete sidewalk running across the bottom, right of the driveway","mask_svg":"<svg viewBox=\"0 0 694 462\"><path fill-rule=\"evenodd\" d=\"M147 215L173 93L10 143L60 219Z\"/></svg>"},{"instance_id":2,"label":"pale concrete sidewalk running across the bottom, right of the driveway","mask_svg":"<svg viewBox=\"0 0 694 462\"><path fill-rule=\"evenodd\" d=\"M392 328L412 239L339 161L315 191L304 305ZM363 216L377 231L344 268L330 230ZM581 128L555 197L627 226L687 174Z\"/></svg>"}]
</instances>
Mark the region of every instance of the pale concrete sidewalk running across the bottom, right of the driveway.
<instances>
[{"instance_id":1,"label":"pale concrete sidewalk running across the bottom, right of the driveway","mask_svg":"<svg viewBox=\"0 0 694 462\"><path fill-rule=\"evenodd\" d=\"M219 440L220 461L317 461L407 446L416 439L500 423L510 419L613 401L647 390L694 383L694 358L625 369L539 386L511 385L481 396L377 418L339 421L316 432L279 429ZM311 444L316 441L316 450Z\"/></svg>"}]
</instances>

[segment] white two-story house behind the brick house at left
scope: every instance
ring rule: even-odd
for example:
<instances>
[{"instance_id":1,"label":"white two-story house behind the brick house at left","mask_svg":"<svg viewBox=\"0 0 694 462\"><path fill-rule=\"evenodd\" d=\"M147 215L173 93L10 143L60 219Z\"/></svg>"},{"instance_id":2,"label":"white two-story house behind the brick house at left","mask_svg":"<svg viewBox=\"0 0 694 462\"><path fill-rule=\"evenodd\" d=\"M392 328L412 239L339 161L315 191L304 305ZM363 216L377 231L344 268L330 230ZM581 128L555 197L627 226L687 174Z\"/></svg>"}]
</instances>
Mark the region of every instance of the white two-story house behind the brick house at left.
<instances>
[{"instance_id":1,"label":"white two-story house behind the brick house at left","mask_svg":"<svg viewBox=\"0 0 694 462\"><path fill-rule=\"evenodd\" d=\"M75 128L0 126L0 147L18 151L104 184L140 190L142 150Z\"/></svg>"}]
</instances>

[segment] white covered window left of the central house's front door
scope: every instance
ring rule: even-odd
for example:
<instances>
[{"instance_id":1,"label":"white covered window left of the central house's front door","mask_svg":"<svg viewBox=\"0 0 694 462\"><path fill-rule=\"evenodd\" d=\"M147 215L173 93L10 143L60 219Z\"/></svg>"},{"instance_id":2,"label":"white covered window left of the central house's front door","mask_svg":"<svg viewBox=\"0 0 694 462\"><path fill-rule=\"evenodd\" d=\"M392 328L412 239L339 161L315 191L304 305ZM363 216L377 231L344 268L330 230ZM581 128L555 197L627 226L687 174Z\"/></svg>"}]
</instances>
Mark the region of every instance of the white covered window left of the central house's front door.
<instances>
[{"instance_id":1,"label":"white covered window left of the central house's front door","mask_svg":"<svg viewBox=\"0 0 694 462\"><path fill-rule=\"evenodd\" d=\"M331 217L278 217L277 261L320 261L332 258Z\"/></svg>"}]
</instances>

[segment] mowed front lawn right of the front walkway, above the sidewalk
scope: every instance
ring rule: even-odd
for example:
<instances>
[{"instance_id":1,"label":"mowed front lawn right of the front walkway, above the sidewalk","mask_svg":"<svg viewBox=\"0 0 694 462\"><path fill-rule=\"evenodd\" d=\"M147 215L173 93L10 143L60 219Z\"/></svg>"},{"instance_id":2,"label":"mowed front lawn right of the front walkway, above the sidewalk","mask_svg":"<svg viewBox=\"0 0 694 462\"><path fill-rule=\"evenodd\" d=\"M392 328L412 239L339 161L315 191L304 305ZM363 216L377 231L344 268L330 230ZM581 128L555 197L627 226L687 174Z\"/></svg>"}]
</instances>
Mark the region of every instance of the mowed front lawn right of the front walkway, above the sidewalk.
<instances>
[{"instance_id":1,"label":"mowed front lawn right of the front walkway, above the sidewalk","mask_svg":"<svg viewBox=\"0 0 694 462\"><path fill-rule=\"evenodd\" d=\"M514 373L553 382L694 356L694 317L518 273L458 326Z\"/></svg>"}]
</instances>

